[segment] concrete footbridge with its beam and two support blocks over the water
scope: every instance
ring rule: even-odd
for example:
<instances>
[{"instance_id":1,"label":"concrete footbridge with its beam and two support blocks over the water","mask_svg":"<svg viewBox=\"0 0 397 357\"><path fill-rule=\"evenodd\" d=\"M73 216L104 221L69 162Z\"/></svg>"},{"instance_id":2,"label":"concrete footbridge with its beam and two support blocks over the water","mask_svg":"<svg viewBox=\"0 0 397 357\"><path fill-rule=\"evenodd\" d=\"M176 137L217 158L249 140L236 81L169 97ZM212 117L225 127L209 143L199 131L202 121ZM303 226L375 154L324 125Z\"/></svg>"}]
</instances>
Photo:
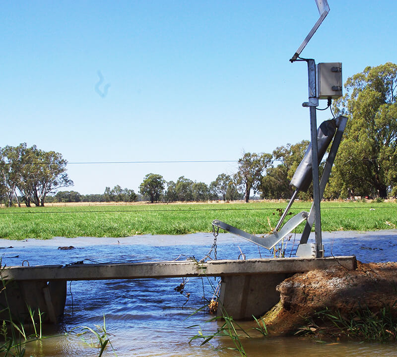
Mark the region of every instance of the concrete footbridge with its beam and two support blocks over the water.
<instances>
[{"instance_id":1,"label":"concrete footbridge with its beam and two support blocks over the water","mask_svg":"<svg viewBox=\"0 0 397 357\"><path fill-rule=\"evenodd\" d=\"M356 268L355 256L327 258L279 258L247 260L162 261L118 264L76 264L4 267L0 270L6 288L0 303L8 306L15 319L27 321L29 305L40 308L44 320L57 323L66 301L66 283L75 280L161 279L220 276L219 303L236 320L260 316L274 306L276 286L288 276L342 264ZM219 309L220 310L220 309ZM218 310L218 311L219 311ZM4 312L3 312L4 314ZM4 315L3 315L4 316ZM4 318L7 318L4 316Z\"/></svg>"}]
</instances>

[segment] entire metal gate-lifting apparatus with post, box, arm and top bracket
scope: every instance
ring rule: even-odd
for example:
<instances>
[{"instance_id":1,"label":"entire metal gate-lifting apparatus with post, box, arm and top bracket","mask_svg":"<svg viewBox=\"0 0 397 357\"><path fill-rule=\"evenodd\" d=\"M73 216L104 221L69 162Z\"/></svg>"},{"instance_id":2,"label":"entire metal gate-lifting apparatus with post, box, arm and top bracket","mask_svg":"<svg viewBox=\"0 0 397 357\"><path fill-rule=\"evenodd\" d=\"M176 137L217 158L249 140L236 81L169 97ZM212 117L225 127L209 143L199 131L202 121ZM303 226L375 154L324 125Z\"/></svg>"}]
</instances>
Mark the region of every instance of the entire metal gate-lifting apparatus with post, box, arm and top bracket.
<instances>
[{"instance_id":1,"label":"entire metal gate-lifting apparatus with post, box, arm and top bracket","mask_svg":"<svg viewBox=\"0 0 397 357\"><path fill-rule=\"evenodd\" d=\"M319 63L316 65L315 60L304 59L300 57L301 52L306 47L330 11L327 0L315 1L320 13L320 17L302 44L299 46L294 56L292 56L290 59L291 63L296 61L307 62L309 82L309 100L303 103L302 106L308 107L310 109L311 143L290 182L290 185L295 186L296 190L288 202L283 214L281 215L274 231L269 235L257 237L219 220L214 220L212 225L214 228L214 234L215 230L219 230L219 228L221 228L227 232L233 233L256 244L264 246L267 249L271 249L281 239L291 233L298 225L300 225L303 221L306 221L296 255L301 257L311 256L319 258L324 257L324 246L321 237L320 201L323 197L326 184L330 178L331 168L342 139L347 118L344 116L335 118L331 111L333 119L324 121L317 129L316 110L319 105L319 99L327 99L327 108L331 108L331 100L342 96L342 63L328 62ZM331 142L331 150L327 158L323 175L319 181L319 165ZM298 192L307 191L312 181L313 204L310 212L299 212L297 215L289 219L284 226L282 226L282 223ZM316 243L307 243L313 223L315 224Z\"/></svg>"}]
</instances>

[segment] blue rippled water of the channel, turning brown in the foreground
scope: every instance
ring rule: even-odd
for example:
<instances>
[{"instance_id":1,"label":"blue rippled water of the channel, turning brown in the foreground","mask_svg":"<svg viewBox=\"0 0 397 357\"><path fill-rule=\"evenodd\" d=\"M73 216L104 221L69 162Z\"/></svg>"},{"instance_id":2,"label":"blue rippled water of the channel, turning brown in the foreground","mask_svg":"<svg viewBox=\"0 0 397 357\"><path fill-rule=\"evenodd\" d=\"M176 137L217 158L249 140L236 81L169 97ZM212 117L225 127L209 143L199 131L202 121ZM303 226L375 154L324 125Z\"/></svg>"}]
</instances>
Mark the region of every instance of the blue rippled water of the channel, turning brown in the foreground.
<instances>
[{"instance_id":1,"label":"blue rippled water of the channel, turning brown in the foreground","mask_svg":"<svg viewBox=\"0 0 397 357\"><path fill-rule=\"evenodd\" d=\"M288 241L285 255L289 256L293 239ZM310 238L313 240L313 237ZM309 240L309 241L310 241ZM397 230L377 232L324 233L326 255L356 255L363 262L397 261ZM128 238L54 238L51 240L13 241L0 239L2 265L70 264L84 260L92 262L140 262L201 259L213 242L209 233L183 236L136 236ZM12 246L12 247L11 247ZM73 246L74 249L58 249ZM241 251L248 258L270 257L268 251L230 234L219 234L218 259L237 259ZM182 254L182 255L181 255ZM240 256L240 258L242 258ZM86 259L86 260L85 260ZM27 262L24 262L26 265ZM214 278L212 279L212 282ZM77 326L103 325L111 333L110 340L119 357L132 356L239 356L228 350L228 339L212 340L199 346L189 344L201 327L212 333L216 322L205 322L211 315L202 312L190 316L203 305L202 297L210 299L212 291L206 278L190 278L184 293L175 290L182 279L141 279L118 281L76 281L67 284L65 316L61 324L45 326L44 334L64 334L27 345L26 356L70 357L97 356L97 350L84 343L72 329ZM216 284L216 283L215 283ZM189 299L187 294L190 294ZM395 344L358 342L319 343L311 338L267 337L253 329L255 323L239 323L251 336L242 339L247 356L396 356ZM187 328L192 325L199 325ZM76 331L76 330L74 330ZM89 342L89 338L86 338ZM222 350L217 350L224 348ZM114 356L107 349L104 356Z\"/></svg>"}]
</instances>

